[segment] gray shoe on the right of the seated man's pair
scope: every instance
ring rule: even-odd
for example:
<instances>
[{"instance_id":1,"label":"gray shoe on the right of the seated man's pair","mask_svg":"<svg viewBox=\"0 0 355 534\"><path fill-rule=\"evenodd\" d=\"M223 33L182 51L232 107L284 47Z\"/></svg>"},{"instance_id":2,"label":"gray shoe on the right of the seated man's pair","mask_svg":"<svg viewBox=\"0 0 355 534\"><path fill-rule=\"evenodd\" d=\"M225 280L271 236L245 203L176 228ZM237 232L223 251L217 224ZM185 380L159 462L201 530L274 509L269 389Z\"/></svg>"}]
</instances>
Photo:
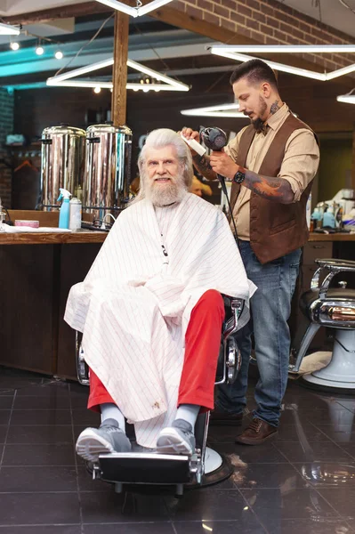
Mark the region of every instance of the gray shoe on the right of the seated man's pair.
<instances>
[{"instance_id":1,"label":"gray shoe on the right of the seated man's pair","mask_svg":"<svg viewBox=\"0 0 355 534\"><path fill-rule=\"evenodd\" d=\"M183 419L176 419L173 425L163 428L157 438L157 452L160 454L191 456L195 452L195 445L192 426Z\"/></svg>"}]
</instances>

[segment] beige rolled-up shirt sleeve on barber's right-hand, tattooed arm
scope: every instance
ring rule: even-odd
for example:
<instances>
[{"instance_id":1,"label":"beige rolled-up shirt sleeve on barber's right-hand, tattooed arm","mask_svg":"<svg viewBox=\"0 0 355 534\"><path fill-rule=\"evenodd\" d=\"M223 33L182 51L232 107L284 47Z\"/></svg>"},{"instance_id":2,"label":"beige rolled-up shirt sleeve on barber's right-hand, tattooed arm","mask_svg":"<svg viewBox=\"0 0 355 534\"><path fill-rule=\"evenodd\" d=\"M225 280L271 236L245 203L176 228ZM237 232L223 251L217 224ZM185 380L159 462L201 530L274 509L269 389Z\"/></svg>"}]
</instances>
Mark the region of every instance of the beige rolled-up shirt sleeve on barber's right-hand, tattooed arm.
<instances>
[{"instance_id":1,"label":"beige rolled-up shirt sleeve on barber's right-hand, tattooed arm","mask_svg":"<svg viewBox=\"0 0 355 534\"><path fill-rule=\"evenodd\" d=\"M296 130L286 142L279 178L291 184L297 202L319 167L319 146L311 130Z\"/></svg>"}]
</instances>

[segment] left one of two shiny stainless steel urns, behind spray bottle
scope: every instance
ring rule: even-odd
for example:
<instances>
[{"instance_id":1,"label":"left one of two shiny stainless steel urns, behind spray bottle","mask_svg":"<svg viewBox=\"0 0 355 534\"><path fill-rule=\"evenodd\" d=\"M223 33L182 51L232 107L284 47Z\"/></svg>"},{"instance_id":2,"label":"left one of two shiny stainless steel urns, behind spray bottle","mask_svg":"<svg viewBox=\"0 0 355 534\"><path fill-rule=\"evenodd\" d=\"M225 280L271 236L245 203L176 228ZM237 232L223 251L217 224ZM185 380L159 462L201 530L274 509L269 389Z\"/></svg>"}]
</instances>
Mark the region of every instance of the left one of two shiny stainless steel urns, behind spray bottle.
<instances>
[{"instance_id":1,"label":"left one of two shiny stainless steel urns, behind spray bottle","mask_svg":"<svg viewBox=\"0 0 355 534\"><path fill-rule=\"evenodd\" d=\"M42 134L41 201L44 211L59 208L60 188L81 197L85 171L85 130L67 124Z\"/></svg>"}]
</instances>

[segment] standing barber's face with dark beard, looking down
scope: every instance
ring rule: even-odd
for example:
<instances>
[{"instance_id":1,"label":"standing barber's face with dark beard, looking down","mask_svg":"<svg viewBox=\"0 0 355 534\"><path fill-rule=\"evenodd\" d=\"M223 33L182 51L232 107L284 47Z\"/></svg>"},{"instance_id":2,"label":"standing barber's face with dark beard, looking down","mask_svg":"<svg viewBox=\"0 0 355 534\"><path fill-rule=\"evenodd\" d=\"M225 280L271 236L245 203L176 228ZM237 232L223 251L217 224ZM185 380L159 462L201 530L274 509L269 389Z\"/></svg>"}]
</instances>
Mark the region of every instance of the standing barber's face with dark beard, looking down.
<instances>
[{"instance_id":1,"label":"standing barber's face with dark beard, looking down","mask_svg":"<svg viewBox=\"0 0 355 534\"><path fill-rule=\"evenodd\" d=\"M268 86L260 84L259 86L250 85L246 78L241 78L233 84L233 93L238 99L239 111L249 117L255 129L268 118Z\"/></svg>"}]
</instances>

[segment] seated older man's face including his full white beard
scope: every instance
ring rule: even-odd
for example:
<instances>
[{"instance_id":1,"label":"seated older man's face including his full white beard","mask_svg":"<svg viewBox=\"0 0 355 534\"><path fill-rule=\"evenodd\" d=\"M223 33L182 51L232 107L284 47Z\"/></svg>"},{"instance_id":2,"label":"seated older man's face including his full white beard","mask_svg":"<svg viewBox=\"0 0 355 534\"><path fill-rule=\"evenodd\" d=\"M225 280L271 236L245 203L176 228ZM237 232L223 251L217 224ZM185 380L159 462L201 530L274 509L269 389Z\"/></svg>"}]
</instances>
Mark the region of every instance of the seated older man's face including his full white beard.
<instances>
[{"instance_id":1,"label":"seated older man's face including his full white beard","mask_svg":"<svg viewBox=\"0 0 355 534\"><path fill-rule=\"evenodd\" d=\"M146 159L147 196L156 206L173 204L184 191L182 168L172 145L149 149Z\"/></svg>"}]
</instances>

